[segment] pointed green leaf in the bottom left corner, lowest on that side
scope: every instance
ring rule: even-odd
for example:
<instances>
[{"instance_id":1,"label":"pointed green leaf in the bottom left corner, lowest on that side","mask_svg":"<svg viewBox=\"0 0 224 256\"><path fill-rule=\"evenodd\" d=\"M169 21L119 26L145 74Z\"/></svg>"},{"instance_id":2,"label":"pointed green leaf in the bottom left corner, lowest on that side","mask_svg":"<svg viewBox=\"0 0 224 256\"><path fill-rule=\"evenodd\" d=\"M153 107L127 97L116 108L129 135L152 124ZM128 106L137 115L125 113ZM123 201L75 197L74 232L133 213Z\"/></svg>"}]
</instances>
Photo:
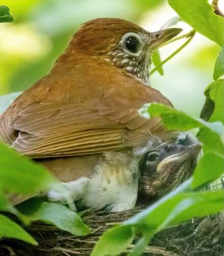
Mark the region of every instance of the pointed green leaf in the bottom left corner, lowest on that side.
<instances>
[{"instance_id":1,"label":"pointed green leaf in the bottom left corner, lowest on that side","mask_svg":"<svg viewBox=\"0 0 224 256\"><path fill-rule=\"evenodd\" d=\"M4 215L0 215L0 237L19 239L32 245L38 244L29 233Z\"/></svg>"}]
</instances>

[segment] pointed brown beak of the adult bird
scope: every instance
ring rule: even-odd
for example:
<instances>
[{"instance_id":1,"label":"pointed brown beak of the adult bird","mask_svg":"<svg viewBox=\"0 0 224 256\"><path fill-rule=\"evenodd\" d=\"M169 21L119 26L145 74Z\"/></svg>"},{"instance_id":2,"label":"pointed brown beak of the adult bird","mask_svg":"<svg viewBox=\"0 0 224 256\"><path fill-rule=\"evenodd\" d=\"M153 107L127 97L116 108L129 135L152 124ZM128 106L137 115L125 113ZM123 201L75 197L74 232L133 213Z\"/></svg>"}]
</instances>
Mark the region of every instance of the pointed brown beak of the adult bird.
<instances>
[{"instance_id":1,"label":"pointed brown beak of the adult bird","mask_svg":"<svg viewBox=\"0 0 224 256\"><path fill-rule=\"evenodd\" d=\"M157 48L160 45L164 44L164 42L181 33L181 31L182 29L179 28L171 28L152 32L150 46L153 48Z\"/></svg>"}]
</instances>

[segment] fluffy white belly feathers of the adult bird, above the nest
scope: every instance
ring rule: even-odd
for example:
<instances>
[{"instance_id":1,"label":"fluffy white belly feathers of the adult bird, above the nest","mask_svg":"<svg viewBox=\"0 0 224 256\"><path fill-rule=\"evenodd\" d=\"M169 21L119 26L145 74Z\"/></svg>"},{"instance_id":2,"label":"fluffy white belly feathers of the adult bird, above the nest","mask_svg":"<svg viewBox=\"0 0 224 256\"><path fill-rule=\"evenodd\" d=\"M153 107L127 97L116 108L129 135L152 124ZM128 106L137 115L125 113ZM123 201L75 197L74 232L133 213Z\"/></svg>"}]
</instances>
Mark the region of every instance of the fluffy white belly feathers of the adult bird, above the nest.
<instances>
[{"instance_id":1,"label":"fluffy white belly feathers of the adult bird, above the nest","mask_svg":"<svg viewBox=\"0 0 224 256\"><path fill-rule=\"evenodd\" d=\"M137 160L127 153L109 152L99 160L90 178L62 182L48 192L51 201L77 201L95 210L121 211L135 206L138 195L139 169ZM66 195L65 195L66 194ZM66 197L65 197L66 196Z\"/></svg>"}]
</instances>

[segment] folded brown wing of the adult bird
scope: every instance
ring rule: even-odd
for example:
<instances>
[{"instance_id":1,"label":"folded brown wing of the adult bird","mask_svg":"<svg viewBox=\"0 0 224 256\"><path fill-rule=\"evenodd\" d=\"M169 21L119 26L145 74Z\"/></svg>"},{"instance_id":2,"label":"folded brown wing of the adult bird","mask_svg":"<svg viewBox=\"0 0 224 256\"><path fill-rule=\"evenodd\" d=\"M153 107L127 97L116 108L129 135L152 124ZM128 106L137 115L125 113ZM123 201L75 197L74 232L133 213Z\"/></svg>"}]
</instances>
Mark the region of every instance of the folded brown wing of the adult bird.
<instances>
[{"instance_id":1,"label":"folded brown wing of the adult bird","mask_svg":"<svg viewBox=\"0 0 224 256\"><path fill-rule=\"evenodd\" d=\"M149 102L147 97L144 102L130 102L128 96L119 97L115 92L88 105L32 104L10 120L8 142L23 155L46 158L122 150L146 144L151 133L164 133L160 118L147 120L138 114L142 103ZM2 134L3 129L2 125ZM7 126L5 133L6 130L9 131Z\"/></svg>"}]
</instances>

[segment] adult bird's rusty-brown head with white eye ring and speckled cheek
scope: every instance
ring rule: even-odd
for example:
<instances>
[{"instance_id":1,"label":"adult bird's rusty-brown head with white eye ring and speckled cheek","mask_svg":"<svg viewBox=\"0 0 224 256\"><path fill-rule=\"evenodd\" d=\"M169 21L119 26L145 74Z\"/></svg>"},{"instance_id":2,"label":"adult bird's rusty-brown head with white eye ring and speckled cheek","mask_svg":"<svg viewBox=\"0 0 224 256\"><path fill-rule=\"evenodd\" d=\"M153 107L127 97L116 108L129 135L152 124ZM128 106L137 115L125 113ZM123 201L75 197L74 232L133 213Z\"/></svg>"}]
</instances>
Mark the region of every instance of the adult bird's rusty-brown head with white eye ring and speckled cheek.
<instances>
[{"instance_id":1,"label":"adult bird's rusty-brown head with white eye ring and speckled cheek","mask_svg":"<svg viewBox=\"0 0 224 256\"><path fill-rule=\"evenodd\" d=\"M150 85L152 51L181 31L171 28L148 32L127 20L97 18L82 25L68 48L100 57L143 84Z\"/></svg>"}]
</instances>

